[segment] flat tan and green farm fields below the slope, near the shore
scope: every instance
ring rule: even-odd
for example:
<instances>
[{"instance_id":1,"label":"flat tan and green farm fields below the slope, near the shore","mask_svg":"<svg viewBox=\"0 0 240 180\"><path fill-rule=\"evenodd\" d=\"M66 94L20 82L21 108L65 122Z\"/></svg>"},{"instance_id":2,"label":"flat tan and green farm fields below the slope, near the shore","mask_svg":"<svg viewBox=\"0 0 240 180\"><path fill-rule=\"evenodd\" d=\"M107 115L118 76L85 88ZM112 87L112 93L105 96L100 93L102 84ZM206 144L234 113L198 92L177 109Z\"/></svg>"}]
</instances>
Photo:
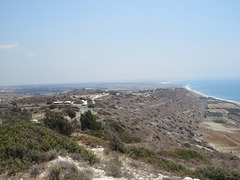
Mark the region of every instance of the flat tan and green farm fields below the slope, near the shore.
<instances>
[{"instance_id":1,"label":"flat tan and green farm fields below the slope, near the shore","mask_svg":"<svg viewBox=\"0 0 240 180\"><path fill-rule=\"evenodd\" d=\"M202 140L220 152L240 157L240 107L216 99L206 100L208 117L200 124Z\"/></svg>"}]
</instances>

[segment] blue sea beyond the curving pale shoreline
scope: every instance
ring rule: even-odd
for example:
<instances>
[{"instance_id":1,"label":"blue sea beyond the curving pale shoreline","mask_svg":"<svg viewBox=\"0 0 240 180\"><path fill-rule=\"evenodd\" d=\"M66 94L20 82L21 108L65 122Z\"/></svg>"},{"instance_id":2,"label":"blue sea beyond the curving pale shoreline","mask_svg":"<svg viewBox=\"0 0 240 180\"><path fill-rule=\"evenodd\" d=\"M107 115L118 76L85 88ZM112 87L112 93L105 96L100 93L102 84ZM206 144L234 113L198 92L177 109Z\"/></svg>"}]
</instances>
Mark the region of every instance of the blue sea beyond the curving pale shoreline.
<instances>
[{"instance_id":1,"label":"blue sea beyond the curving pale shoreline","mask_svg":"<svg viewBox=\"0 0 240 180\"><path fill-rule=\"evenodd\" d=\"M203 95L240 104L240 78L185 80L171 84L184 85Z\"/></svg>"}]
</instances>

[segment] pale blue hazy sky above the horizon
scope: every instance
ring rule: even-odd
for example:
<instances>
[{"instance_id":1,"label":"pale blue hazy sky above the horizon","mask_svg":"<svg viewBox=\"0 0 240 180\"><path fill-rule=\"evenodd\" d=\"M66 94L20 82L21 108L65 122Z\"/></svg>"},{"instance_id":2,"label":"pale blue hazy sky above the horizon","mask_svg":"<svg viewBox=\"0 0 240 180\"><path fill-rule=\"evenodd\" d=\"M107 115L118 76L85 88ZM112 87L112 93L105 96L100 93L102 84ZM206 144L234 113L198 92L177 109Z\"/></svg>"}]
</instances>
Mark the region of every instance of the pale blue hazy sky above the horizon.
<instances>
[{"instance_id":1,"label":"pale blue hazy sky above the horizon","mask_svg":"<svg viewBox=\"0 0 240 180\"><path fill-rule=\"evenodd\" d=\"M0 85L240 78L239 0L0 0Z\"/></svg>"}]
</instances>

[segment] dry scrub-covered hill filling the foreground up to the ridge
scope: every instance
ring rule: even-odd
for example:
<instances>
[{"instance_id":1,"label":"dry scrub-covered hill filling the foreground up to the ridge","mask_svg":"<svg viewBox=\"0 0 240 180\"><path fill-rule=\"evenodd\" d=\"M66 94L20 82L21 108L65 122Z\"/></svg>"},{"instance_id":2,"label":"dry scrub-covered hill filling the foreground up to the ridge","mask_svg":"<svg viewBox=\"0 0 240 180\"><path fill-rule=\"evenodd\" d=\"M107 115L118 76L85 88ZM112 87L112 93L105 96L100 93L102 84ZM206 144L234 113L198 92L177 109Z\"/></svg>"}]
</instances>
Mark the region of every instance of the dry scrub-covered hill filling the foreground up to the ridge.
<instances>
[{"instance_id":1,"label":"dry scrub-covered hill filling the foreground up to the ridge","mask_svg":"<svg viewBox=\"0 0 240 180\"><path fill-rule=\"evenodd\" d=\"M179 93L181 96L178 97ZM80 111L75 106L63 105L60 108L59 105L52 109L51 104L46 106L46 99L41 106L41 101L34 98L34 104L40 105L33 105L35 109L24 109L16 101L0 117L0 174L12 176L29 169L33 178L47 172L46 178L49 179L92 179L94 172L86 169L97 163L94 168L98 167L105 175L116 178L128 178L124 169L144 164L154 168L156 173L165 171L177 177L240 179L237 165L236 168L226 166L228 169L217 164L226 160L226 164L233 165L239 162L237 157L209 149L198 140L198 123L208 112L206 109L197 113L189 111L197 105L193 104L192 98L182 102L186 97L182 89L179 92L111 92L96 100L97 104L91 107L91 111L81 114L77 120L74 117L76 114L79 117ZM179 102L172 103L172 98ZM25 99L21 101L28 104ZM41 111L42 119L32 121L30 113L39 115L38 111ZM229 114L235 112L232 111L229 110ZM224 123L221 116L225 118L226 113L207 116L211 122ZM51 167L44 169L43 164L47 163ZM86 169L76 167L79 164Z\"/></svg>"}]
</instances>

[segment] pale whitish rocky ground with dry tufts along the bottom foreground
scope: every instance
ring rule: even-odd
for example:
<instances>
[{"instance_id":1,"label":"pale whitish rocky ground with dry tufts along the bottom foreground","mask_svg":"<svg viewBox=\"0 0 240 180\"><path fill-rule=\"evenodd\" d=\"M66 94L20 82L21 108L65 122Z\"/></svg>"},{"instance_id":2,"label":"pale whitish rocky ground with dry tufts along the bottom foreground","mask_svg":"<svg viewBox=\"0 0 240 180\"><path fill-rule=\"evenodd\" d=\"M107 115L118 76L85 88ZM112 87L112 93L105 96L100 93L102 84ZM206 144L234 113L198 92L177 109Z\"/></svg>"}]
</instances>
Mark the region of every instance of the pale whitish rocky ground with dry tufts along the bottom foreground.
<instances>
[{"instance_id":1,"label":"pale whitish rocky ground with dry tufts along the bottom foreground","mask_svg":"<svg viewBox=\"0 0 240 180\"><path fill-rule=\"evenodd\" d=\"M179 176L173 176L168 172L160 171L146 163L135 161L121 154L105 154L104 148L102 147L92 148L90 150L100 158L99 164L90 166L83 161L73 159L69 156L58 156L56 159L47 163L32 166L28 172L18 173L16 176L12 176L9 179L51 179L50 174L54 167L57 167L61 172L65 171L66 173L71 170L72 166L74 166L82 172L85 179L92 180L198 180L191 177L181 178ZM112 166L110 161L116 157L121 162L121 166L117 166L116 169L110 170L113 175L111 176L111 174L109 174L109 169L111 169L110 166ZM121 177L114 177L117 173L120 173Z\"/></svg>"}]
</instances>

